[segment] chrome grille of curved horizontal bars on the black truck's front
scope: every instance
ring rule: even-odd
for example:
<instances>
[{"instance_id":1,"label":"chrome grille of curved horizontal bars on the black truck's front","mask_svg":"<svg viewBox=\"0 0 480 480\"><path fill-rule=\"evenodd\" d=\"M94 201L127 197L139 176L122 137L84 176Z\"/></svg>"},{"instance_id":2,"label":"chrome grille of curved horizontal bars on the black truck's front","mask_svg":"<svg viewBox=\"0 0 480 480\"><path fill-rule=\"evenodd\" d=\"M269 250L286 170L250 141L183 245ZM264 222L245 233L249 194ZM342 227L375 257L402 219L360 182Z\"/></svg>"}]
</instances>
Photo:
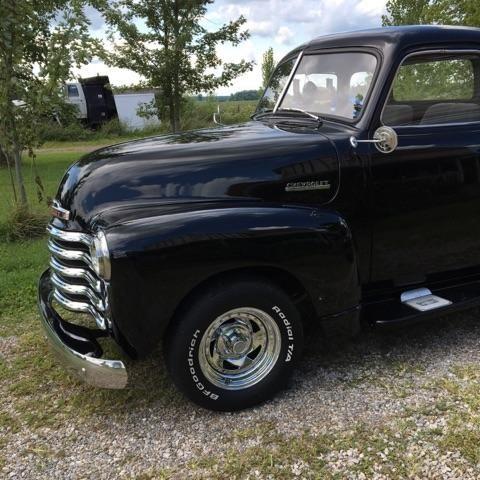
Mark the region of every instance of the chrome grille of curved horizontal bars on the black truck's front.
<instances>
[{"instance_id":1,"label":"chrome grille of curved horizontal bars on the black truck's front","mask_svg":"<svg viewBox=\"0 0 480 480\"><path fill-rule=\"evenodd\" d=\"M47 227L52 254L50 267L53 297L64 308L90 314L101 329L107 328L106 285L94 272L90 257L93 238L83 232Z\"/></svg>"}]
</instances>

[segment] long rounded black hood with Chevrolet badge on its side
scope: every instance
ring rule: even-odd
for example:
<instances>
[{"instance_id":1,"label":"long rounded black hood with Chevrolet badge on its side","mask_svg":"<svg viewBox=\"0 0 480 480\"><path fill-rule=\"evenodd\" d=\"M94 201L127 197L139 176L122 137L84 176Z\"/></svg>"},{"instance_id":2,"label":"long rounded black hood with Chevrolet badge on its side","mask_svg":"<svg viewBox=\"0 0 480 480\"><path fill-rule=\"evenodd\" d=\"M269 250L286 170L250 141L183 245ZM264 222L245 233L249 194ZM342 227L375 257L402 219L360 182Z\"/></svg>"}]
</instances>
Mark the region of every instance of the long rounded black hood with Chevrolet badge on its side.
<instances>
[{"instance_id":1,"label":"long rounded black hood with Chevrolet badge on its side","mask_svg":"<svg viewBox=\"0 0 480 480\"><path fill-rule=\"evenodd\" d=\"M76 225L89 228L179 203L321 205L338 186L335 148L318 129L252 121L92 152L68 169L57 200Z\"/></svg>"}]
</instances>

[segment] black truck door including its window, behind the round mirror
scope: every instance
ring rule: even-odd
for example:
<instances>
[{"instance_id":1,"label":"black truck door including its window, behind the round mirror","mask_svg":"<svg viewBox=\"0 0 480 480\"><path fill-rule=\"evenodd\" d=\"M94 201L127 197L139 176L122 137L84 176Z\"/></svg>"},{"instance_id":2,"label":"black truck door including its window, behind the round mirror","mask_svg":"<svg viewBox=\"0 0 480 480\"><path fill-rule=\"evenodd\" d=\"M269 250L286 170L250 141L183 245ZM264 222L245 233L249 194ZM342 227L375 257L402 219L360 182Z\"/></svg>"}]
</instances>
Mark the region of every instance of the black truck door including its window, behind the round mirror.
<instances>
[{"instance_id":1,"label":"black truck door including its window, behind the round mirror","mask_svg":"<svg viewBox=\"0 0 480 480\"><path fill-rule=\"evenodd\" d=\"M381 123L398 135L371 158L372 281L414 284L480 266L479 56L409 56Z\"/></svg>"}]
</instances>

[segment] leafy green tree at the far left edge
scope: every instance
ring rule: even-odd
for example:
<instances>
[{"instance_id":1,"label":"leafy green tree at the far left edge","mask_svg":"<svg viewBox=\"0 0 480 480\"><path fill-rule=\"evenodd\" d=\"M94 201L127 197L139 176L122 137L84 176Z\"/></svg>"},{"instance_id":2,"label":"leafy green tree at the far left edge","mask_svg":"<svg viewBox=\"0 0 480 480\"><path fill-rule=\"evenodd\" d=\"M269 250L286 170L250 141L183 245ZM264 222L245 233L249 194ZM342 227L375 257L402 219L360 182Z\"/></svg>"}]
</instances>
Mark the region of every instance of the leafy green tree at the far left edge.
<instances>
[{"instance_id":1,"label":"leafy green tree at the far left edge","mask_svg":"<svg viewBox=\"0 0 480 480\"><path fill-rule=\"evenodd\" d=\"M0 150L15 169L14 198L24 208L22 152L34 158L39 125L65 110L61 86L94 47L83 7L78 0L0 3Z\"/></svg>"}]
</instances>

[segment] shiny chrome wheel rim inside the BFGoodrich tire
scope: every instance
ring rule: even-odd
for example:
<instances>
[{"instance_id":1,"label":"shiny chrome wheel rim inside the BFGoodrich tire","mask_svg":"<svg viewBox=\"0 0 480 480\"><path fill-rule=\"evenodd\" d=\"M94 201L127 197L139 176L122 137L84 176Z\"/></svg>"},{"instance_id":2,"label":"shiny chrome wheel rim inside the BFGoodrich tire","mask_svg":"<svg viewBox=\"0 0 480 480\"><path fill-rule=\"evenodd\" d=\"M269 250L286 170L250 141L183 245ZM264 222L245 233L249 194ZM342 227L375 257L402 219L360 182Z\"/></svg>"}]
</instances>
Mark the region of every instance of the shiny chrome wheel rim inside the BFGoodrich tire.
<instances>
[{"instance_id":1,"label":"shiny chrome wheel rim inside the BFGoodrich tire","mask_svg":"<svg viewBox=\"0 0 480 480\"><path fill-rule=\"evenodd\" d=\"M200 368L209 382L241 390L263 380L280 355L280 329L257 308L236 308L217 317L200 342Z\"/></svg>"}]
</instances>

